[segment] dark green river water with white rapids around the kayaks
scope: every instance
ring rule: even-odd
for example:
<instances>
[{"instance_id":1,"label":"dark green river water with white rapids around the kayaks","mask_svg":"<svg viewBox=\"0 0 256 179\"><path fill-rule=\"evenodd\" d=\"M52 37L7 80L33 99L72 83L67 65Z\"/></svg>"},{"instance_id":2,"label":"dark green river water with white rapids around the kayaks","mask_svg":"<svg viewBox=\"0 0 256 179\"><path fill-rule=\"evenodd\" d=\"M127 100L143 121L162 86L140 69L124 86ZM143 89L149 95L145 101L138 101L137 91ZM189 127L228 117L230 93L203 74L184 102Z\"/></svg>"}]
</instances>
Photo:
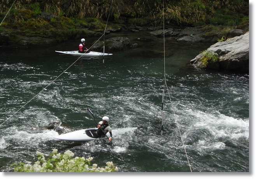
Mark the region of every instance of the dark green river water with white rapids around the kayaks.
<instances>
[{"instance_id":1,"label":"dark green river water with white rapids around the kayaks","mask_svg":"<svg viewBox=\"0 0 256 179\"><path fill-rule=\"evenodd\" d=\"M249 74L191 67L188 62L210 44L165 38L164 56L163 39L145 33L131 39L138 48L79 60L55 52L76 50L77 41L0 49L2 172L54 148L93 157L99 166L112 161L119 172L249 172ZM66 132L95 127L86 108L97 122L109 116L113 144L53 139L57 131L46 129L51 122Z\"/></svg>"}]
</instances>

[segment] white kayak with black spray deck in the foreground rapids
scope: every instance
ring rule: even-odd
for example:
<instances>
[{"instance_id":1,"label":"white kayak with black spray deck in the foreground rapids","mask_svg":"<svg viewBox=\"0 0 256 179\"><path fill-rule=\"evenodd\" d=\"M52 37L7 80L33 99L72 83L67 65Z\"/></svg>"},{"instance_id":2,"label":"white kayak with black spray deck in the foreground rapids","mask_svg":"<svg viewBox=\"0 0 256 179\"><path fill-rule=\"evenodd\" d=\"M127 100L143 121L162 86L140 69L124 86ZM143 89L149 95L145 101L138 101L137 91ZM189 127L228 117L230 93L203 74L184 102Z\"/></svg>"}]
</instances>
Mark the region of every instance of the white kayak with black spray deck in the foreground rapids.
<instances>
[{"instance_id":1,"label":"white kayak with black spray deck in the foreground rapids","mask_svg":"<svg viewBox=\"0 0 256 179\"><path fill-rule=\"evenodd\" d=\"M60 139L65 141L74 141L74 142L86 142L95 139L107 139L109 138L110 134L107 133L107 137L100 137L97 134L98 128L90 128L90 129L81 129L78 131L73 131L66 134L61 134L59 136L54 137L54 139Z\"/></svg>"}]
</instances>

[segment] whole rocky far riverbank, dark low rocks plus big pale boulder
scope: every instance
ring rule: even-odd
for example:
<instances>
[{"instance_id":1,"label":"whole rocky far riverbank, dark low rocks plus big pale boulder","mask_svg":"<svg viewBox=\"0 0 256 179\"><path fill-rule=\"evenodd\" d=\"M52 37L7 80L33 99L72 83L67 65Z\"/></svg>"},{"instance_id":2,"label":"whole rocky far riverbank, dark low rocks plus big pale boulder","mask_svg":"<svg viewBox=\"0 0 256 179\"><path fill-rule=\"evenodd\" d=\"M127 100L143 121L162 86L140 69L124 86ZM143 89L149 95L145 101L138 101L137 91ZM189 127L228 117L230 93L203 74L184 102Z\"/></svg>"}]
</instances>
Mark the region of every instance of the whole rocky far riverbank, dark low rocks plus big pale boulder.
<instances>
[{"instance_id":1,"label":"whole rocky far riverbank, dark low rocks plus big pale boulder","mask_svg":"<svg viewBox=\"0 0 256 179\"><path fill-rule=\"evenodd\" d=\"M103 45L108 52L119 51L129 48L137 48L136 41L132 37L122 37L119 33L147 33L157 38L174 37L175 40L188 43L216 43L220 40L221 32L225 27L219 26L218 30L207 27L186 27L186 28L167 28L163 31L162 27L125 27L107 28L105 34L112 34L112 38L98 41L92 46L91 50L103 50ZM103 32L86 31L87 37L100 37ZM200 69L214 69L234 72L249 72L249 32L242 29L230 29L227 36L223 36L226 41L219 41L212 45L205 52L199 54L191 60L191 64ZM56 43L54 39L20 36L18 42L10 41L10 34L0 34L0 46L35 46L51 45ZM114 36L114 37L113 37ZM78 38L78 37L77 37ZM80 37L79 37L80 38ZM86 37L85 37L86 38ZM229 39L229 40L227 40ZM242 48L241 48L242 47ZM228 50L227 50L228 49Z\"/></svg>"}]
</instances>

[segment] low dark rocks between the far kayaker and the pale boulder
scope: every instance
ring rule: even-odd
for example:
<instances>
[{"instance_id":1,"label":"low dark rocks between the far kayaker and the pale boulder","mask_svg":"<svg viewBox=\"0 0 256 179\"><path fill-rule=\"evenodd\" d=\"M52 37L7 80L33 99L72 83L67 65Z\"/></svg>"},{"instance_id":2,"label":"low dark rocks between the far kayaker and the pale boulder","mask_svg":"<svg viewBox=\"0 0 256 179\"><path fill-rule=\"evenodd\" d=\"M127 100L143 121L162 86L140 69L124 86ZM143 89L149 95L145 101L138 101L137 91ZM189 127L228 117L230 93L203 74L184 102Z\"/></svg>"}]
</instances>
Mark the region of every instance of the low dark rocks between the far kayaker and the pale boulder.
<instances>
[{"instance_id":1,"label":"low dark rocks between the far kayaker and the pale boulder","mask_svg":"<svg viewBox=\"0 0 256 179\"><path fill-rule=\"evenodd\" d=\"M223 29L224 27L219 27ZM216 43L221 36L220 31L214 31L213 29L208 29L204 27L187 27L187 28L168 28L163 31L161 27L135 27L135 28L128 28L128 29L107 29L106 33L118 33L121 31L132 31L132 32L145 32L149 33L152 36L156 36L159 38L165 37L176 37L177 41L182 42L189 42L189 43L198 43L198 42L209 42L209 43ZM235 36L240 36L245 34L246 31L242 29L231 29L227 32L226 39L233 38ZM101 34L98 34L98 36ZM121 50L123 48L134 48L136 44L131 44L129 38L112 38L107 40L107 45L105 44L106 48L110 51L112 50ZM121 43L117 43L121 42ZM101 49L103 45L95 44L93 49Z\"/></svg>"}]
</instances>

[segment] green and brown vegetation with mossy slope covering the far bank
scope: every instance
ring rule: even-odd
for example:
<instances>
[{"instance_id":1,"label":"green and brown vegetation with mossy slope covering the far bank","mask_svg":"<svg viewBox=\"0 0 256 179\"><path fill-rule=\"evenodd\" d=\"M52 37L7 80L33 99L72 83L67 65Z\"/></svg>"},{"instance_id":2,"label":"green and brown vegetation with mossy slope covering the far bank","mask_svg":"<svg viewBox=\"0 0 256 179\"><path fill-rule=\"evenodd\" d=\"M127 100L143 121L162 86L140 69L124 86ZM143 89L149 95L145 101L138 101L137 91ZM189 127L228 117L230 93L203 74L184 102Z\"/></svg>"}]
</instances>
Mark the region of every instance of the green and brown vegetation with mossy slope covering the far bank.
<instances>
[{"instance_id":1,"label":"green and brown vegetation with mossy slope covering the far bank","mask_svg":"<svg viewBox=\"0 0 256 179\"><path fill-rule=\"evenodd\" d=\"M0 0L1 22L13 2ZM249 0L19 0L0 33L63 41L80 38L80 34L89 37L88 30L103 32L108 17L111 28L160 26L163 15L168 26L228 26L249 31Z\"/></svg>"}]
</instances>

